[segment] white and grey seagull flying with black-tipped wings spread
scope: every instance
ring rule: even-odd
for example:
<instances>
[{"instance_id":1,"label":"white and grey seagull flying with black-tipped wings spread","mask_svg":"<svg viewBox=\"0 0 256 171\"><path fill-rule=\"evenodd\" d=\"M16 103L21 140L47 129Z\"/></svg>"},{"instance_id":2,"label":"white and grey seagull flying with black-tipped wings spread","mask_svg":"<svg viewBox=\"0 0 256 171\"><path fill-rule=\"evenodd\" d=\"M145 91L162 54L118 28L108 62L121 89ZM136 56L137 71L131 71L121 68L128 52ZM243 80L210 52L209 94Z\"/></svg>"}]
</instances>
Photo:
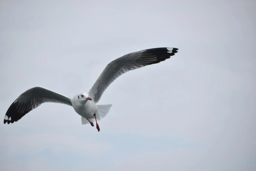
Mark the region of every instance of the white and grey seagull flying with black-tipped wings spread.
<instances>
[{"instance_id":1,"label":"white and grey seagull flying with black-tipped wings spread","mask_svg":"<svg viewBox=\"0 0 256 171\"><path fill-rule=\"evenodd\" d=\"M112 104L96 105L106 88L120 75L141 68L143 66L159 63L177 53L177 48L160 47L132 52L110 61L100 77L92 85L88 93L75 94L69 97L48 90L44 87L33 87L22 93L9 107L5 114L4 124L14 123L25 116L29 111L36 109L42 103L53 102L72 106L81 115L82 125L91 124L100 131L97 120L104 118L109 112Z\"/></svg>"}]
</instances>

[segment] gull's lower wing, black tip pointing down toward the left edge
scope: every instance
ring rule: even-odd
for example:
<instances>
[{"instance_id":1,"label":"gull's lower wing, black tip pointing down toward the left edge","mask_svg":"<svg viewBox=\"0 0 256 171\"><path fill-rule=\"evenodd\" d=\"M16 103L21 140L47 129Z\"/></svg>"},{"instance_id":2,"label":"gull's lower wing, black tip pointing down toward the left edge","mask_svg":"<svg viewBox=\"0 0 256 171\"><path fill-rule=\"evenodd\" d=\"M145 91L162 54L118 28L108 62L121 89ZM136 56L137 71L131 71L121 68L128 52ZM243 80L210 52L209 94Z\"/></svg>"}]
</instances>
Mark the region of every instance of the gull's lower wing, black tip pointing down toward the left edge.
<instances>
[{"instance_id":1,"label":"gull's lower wing, black tip pointing down toward the left edge","mask_svg":"<svg viewBox=\"0 0 256 171\"><path fill-rule=\"evenodd\" d=\"M22 93L9 107L4 124L20 120L29 111L45 102L63 103L72 106L70 98L43 87L33 87Z\"/></svg>"}]
</instances>

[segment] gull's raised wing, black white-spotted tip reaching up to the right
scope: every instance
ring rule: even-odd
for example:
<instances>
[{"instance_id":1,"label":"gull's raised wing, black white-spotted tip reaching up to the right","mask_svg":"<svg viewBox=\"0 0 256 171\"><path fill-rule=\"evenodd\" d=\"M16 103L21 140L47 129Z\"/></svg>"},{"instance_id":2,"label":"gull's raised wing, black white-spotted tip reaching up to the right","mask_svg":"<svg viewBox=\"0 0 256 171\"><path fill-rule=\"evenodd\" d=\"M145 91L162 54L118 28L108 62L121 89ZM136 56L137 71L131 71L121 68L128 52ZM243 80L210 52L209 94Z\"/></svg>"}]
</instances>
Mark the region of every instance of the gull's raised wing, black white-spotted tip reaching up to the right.
<instances>
[{"instance_id":1,"label":"gull's raised wing, black white-spotted tip reaching up to the right","mask_svg":"<svg viewBox=\"0 0 256 171\"><path fill-rule=\"evenodd\" d=\"M141 68L146 65L159 63L177 53L177 48L153 48L126 54L120 58L112 60L105 67L97 81L89 90L89 95L97 103L106 88L120 75L127 71Z\"/></svg>"}]
</instances>

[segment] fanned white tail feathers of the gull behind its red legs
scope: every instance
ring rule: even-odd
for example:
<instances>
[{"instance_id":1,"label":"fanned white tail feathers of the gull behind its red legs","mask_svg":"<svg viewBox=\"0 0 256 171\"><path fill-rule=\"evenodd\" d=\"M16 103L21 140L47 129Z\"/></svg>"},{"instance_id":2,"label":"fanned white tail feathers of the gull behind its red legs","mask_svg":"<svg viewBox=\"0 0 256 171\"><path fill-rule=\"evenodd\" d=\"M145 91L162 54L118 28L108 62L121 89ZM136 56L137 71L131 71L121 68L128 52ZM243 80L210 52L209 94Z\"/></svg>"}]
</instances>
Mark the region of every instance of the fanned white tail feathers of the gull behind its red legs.
<instances>
[{"instance_id":1,"label":"fanned white tail feathers of the gull behind its red legs","mask_svg":"<svg viewBox=\"0 0 256 171\"><path fill-rule=\"evenodd\" d=\"M111 106L112 105L97 105L97 109L95 111L97 121L100 121L102 118L104 118L108 114ZM82 119L82 125L89 124L89 121L84 117L81 116L81 119ZM94 116L92 116L89 120L91 122L94 122L95 121Z\"/></svg>"}]
</instances>

